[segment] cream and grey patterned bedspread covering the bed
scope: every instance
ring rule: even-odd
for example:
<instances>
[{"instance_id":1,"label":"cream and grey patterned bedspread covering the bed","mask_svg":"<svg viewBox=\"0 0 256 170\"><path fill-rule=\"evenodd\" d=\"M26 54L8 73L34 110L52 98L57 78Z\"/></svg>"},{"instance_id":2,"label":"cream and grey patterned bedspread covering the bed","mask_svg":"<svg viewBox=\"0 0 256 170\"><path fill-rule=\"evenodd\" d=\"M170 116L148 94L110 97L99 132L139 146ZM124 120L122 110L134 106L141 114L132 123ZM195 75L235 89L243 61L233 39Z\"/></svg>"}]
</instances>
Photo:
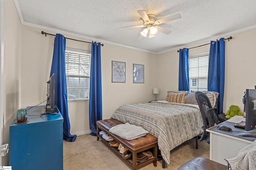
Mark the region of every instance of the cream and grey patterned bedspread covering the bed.
<instances>
[{"instance_id":1,"label":"cream and grey patterned bedspread covering the bed","mask_svg":"<svg viewBox=\"0 0 256 170\"><path fill-rule=\"evenodd\" d=\"M152 102L122 105L111 118L141 126L158 138L158 147L168 164L172 149L203 132L200 110L186 104Z\"/></svg>"}]
</instances>

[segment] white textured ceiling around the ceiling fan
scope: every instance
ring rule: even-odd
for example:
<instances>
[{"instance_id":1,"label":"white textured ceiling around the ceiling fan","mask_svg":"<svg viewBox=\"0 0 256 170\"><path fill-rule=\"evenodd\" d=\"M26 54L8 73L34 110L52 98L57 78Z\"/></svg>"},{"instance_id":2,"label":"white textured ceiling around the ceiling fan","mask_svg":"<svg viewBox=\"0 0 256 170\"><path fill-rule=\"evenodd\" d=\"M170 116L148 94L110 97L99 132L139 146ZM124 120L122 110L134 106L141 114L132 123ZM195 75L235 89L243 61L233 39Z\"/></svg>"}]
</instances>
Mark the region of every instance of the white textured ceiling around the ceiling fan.
<instances>
[{"instance_id":1,"label":"white textured ceiling around the ceiling fan","mask_svg":"<svg viewBox=\"0 0 256 170\"><path fill-rule=\"evenodd\" d=\"M89 37L91 40L125 45L161 53L210 37L256 25L256 0L14 0L23 24L36 24ZM160 26L155 37L140 37L144 28L137 10L158 19L180 13L182 18ZM47 31L46 31L47 32ZM59 32L62 33L62 32Z\"/></svg>"}]
</instances>

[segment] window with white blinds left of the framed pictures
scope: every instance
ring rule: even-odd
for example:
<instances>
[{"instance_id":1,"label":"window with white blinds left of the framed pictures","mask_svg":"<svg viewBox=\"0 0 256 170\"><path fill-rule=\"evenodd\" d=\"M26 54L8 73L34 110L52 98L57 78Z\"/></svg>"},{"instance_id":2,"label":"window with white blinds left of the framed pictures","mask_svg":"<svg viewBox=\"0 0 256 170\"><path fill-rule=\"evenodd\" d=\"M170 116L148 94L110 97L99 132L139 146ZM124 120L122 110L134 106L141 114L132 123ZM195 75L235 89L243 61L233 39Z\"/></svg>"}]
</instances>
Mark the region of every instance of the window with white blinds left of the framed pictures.
<instances>
[{"instance_id":1,"label":"window with white blinds left of the framed pictures","mask_svg":"<svg viewBox=\"0 0 256 170\"><path fill-rule=\"evenodd\" d=\"M90 51L66 48L65 62L68 101L89 100Z\"/></svg>"}]
</instances>

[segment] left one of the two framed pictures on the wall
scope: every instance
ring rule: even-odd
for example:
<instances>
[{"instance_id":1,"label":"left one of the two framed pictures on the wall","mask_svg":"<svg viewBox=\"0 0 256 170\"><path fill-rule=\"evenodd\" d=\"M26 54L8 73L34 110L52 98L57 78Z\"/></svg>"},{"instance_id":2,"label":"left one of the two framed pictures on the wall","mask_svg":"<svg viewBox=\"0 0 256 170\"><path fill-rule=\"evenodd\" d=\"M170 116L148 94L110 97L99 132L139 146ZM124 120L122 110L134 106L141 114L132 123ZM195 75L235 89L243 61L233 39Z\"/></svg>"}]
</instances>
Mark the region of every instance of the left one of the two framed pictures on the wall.
<instances>
[{"instance_id":1,"label":"left one of the two framed pictures on the wall","mask_svg":"<svg viewBox=\"0 0 256 170\"><path fill-rule=\"evenodd\" d=\"M125 83L125 63L112 61L112 82Z\"/></svg>"}]
</instances>

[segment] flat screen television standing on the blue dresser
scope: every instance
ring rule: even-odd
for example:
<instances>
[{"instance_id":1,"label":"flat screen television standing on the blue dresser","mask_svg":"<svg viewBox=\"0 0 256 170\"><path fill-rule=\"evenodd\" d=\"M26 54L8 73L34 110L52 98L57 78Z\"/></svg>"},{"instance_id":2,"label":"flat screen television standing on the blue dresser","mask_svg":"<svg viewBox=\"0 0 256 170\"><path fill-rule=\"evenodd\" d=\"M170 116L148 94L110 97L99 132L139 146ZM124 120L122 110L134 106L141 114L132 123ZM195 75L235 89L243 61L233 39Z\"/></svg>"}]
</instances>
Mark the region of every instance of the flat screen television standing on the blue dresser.
<instances>
[{"instance_id":1,"label":"flat screen television standing on the blue dresser","mask_svg":"<svg viewBox=\"0 0 256 170\"><path fill-rule=\"evenodd\" d=\"M54 98L55 98L55 73L50 76L47 82L47 102L46 102L46 113L54 113Z\"/></svg>"}]
</instances>

